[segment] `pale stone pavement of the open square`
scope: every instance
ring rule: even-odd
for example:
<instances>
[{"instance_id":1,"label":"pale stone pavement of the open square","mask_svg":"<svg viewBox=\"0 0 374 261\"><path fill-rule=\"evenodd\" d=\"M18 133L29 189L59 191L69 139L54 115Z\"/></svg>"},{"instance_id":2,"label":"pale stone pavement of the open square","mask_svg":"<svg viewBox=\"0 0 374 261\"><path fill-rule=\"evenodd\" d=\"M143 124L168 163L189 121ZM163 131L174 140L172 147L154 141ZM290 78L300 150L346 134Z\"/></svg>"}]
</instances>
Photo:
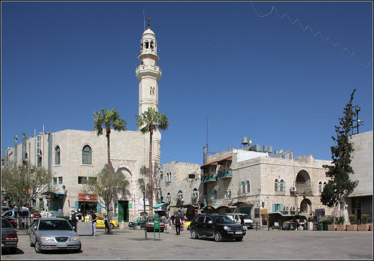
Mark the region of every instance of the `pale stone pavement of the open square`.
<instances>
[{"instance_id":1,"label":"pale stone pavement of the open square","mask_svg":"<svg viewBox=\"0 0 374 261\"><path fill-rule=\"evenodd\" d=\"M20 232L21 233L21 232ZM29 245L28 234L19 234L18 250L12 255L1 251L2 260L211 260L211 259L277 259L277 260L373 260L373 232L368 231L278 231L247 230L243 241L214 242L191 239L189 231L180 235L147 233L144 230L114 229L113 235L81 236L82 251L49 251L36 254Z\"/></svg>"}]
</instances>

